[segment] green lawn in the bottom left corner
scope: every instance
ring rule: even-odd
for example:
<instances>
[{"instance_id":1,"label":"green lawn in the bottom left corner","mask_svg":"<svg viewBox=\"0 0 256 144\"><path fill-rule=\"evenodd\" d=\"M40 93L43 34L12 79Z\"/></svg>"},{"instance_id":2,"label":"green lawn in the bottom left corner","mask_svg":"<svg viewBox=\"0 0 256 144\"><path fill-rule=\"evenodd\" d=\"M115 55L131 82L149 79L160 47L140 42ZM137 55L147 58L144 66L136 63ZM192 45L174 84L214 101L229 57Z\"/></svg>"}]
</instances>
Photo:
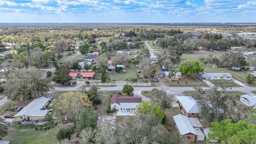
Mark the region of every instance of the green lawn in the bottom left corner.
<instances>
[{"instance_id":1,"label":"green lawn in the bottom left corner","mask_svg":"<svg viewBox=\"0 0 256 144\"><path fill-rule=\"evenodd\" d=\"M33 129L15 129L10 127L7 137L4 140L10 141L10 144L25 143L58 143L55 138L57 128L50 130Z\"/></svg>"}]
</instances>

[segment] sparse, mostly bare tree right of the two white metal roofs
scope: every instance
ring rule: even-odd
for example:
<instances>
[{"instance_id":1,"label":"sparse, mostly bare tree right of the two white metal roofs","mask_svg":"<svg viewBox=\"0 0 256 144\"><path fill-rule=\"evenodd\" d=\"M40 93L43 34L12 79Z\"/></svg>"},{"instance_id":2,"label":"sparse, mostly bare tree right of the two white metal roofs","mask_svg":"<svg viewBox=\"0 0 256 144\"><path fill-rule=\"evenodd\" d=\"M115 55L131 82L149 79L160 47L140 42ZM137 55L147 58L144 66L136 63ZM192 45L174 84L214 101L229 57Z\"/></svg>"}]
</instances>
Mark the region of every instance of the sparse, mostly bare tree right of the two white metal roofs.
<instances>
[{"instance_id":1,"label":"sparse, mostly bare tree right of the two white metal roofs","mask_svg":"<svg viewBox=\"0 0 256 144\"><path fill-rule=\"evenodd\" d=\"M227 95L224 90L218 91L218 87L204 91L197 87L193 96L198 104L200 117L206 122L220 122L225 118L237 122L247 115L247 110L243 109L235 95Z\"/></svg>"}]
</instances>

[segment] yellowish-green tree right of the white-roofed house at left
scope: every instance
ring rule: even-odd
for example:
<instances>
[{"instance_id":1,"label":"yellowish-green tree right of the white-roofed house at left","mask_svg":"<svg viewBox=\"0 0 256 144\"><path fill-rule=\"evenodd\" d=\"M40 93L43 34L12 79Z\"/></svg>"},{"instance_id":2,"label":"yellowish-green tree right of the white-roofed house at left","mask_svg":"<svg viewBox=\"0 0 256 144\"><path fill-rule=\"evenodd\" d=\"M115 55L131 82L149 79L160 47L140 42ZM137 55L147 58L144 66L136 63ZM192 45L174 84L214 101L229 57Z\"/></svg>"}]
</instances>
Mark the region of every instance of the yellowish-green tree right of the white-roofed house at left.
<instances>
[{"instance_id":1,"label":"yellowish-green tree right of the white-roofed house at left","mask_svg":"<svg viewBox=\"0 0 256 144\"><path fill-rule=\"evenodd\" d=\"M59 119L64 119L66 116L69 122L74 122L76 125L78 114L86 107L92 107L87 94L81 92L65 92L60 95L55 103L53 114Z\"/></svg>"}]
</instances>

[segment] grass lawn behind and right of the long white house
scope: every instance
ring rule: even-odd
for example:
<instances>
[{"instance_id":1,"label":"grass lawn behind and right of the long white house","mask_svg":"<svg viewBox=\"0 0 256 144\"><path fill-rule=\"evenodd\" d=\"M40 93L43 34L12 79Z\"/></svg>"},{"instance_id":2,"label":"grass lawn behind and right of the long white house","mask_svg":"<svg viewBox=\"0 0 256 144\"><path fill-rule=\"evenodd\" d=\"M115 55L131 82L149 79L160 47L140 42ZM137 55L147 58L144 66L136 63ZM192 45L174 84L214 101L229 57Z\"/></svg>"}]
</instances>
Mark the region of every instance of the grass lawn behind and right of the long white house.
<instances>
[{"instance_id":1,"label":"grass lawn behind and right of the long white house","mask_svg":"<svg viewBox=\"0 0 256 144\"><path fill-rule=\"evenodd\" d=\"M238 81L249 85L249 86L253 86L256 87L256 82L254 82L253 84L247 84L246 83L246 76L247 76L247 71L231 71L227 68L209 68L209 67L205 67L204 68L204 72L208 72L208 73L231 73L233 78L237 79Z\"/></svg>"}]
</instances>

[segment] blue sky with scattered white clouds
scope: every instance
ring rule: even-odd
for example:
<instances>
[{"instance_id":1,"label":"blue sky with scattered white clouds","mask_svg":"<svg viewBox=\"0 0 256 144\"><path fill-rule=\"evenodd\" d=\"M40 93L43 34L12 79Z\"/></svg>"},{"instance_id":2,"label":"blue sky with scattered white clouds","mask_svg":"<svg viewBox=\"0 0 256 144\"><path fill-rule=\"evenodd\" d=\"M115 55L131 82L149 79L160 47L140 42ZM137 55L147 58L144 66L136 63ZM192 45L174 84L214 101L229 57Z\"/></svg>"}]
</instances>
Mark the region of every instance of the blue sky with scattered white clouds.
<instances>
[{"instance_id":1,"label":"blue sky with scattered white clouds","mask_svg":"<svg viewBox=\"0 0 256 144\"><path fill-rule=\"evenodd\" d=\"M256 1L0 0L0 22L256 22Z\"/></svg>"}]
</instances>

